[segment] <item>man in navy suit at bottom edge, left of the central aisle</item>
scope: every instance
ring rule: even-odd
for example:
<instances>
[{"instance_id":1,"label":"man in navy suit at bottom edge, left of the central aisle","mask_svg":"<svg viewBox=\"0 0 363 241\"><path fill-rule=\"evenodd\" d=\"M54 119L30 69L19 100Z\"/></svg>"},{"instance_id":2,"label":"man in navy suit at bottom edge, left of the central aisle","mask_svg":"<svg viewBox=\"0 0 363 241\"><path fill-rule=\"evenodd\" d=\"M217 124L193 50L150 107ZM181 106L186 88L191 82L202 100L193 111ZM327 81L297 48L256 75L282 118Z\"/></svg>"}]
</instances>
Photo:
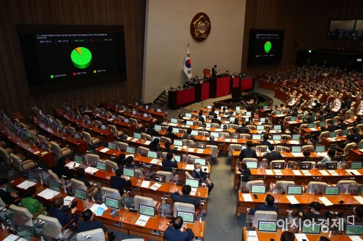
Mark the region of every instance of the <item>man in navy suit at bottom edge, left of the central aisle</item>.
<instances>
[{"instance_id":1,"label":"man in navy suit at bottom edge, left of the central aisle","mask_svg":"<svg viewBox=\"0 0 363 241\"><path fill-rule=\"evenodd\" d=\"M183 232L185 228L185 232ZM168 226L164 232L167 241L191 241L194 238L193 231L183 222L182 217L175 217L172 226Z\"/></svg>"}]
</instances>

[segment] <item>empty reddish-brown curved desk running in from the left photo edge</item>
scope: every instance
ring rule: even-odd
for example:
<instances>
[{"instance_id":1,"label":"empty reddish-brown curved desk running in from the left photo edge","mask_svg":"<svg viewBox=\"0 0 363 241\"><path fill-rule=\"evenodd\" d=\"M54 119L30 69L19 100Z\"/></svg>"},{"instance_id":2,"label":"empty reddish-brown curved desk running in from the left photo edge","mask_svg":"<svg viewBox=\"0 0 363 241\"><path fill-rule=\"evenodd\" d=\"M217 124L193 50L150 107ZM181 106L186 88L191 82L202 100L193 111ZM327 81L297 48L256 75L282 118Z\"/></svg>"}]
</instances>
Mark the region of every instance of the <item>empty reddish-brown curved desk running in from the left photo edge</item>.
<instances>
[{"instance_id":1,"label":"empty reddish-brown curved desk running in from the left photo edge","mask_svg":"<svg viewBox=\"0 0 363 241\"><path fill-rule=\"evenodd\" d=\"M53 167L54 165L56 165L52 152L43 150L40 147L32 145L28 141L20 138L17 134L14 134L12 131L10 131L2 120L0 120L0 130L3 137L7 138L10 142L15 144L26 153L35 156L37 159L40 159L42 162L45 163L45 165L47 165L47 167Z\"/></svg>"}]
</instances>

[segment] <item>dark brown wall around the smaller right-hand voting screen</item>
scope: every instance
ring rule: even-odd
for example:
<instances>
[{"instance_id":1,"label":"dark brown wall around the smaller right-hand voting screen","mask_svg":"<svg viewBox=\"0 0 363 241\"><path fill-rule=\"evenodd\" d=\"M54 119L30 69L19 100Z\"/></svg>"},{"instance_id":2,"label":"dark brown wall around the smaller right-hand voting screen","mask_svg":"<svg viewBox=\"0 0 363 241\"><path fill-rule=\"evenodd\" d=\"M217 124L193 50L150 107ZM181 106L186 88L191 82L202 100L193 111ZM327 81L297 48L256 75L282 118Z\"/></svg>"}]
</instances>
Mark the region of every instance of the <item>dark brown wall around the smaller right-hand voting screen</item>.
<instances>
[{"instance_id":1,"label":"dark brown wall around the smaller right-hand voting screen","mask_svg":"<svg viewBox=\"0 0 363 241\"><path fill-rule=\"evenodd\" d=\"M247 0L241 71L263 73L295 64L297 50L334 49L363 52L363 41L326 39L329 20L363 19L361 0ZM247 65L250 29L285 30L282 61Z\"/></svg>"}]
</instances>

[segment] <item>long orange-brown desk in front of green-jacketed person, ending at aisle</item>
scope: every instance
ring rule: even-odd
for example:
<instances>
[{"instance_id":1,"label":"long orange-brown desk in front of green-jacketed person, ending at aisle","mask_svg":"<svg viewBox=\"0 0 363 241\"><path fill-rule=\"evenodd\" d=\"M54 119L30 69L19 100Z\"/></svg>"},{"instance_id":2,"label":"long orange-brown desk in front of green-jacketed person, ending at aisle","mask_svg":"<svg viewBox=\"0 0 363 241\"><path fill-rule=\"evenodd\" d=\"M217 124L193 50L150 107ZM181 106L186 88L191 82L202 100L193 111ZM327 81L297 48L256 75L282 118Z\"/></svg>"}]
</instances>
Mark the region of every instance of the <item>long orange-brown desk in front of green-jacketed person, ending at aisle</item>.
<instances>
[{"instance_id":1,"label":"long orange-brown desk in front of green-jacketed person, ending at aisle","mask_svg":"<svg viewBox=\"0 0 363 241\"><path fill-rule=\"evenodd\" d=\"M25 180L24 177L19 177L18 179L14 180L11 182L11 185L15 188L18 189L20 192L24 192L25 189L19 189L16 186L19 185L20 183L22 183ZM53 201L57 198L57 197L66 197L67 194L64 193L64 191L62 190L56 197L48 200L48 199L44 199L40 196L38 196L38 193L40 193L41 191L43 191L44 189L46 189L47 187L42 186L41 184L36 184L35 185L36 189L37 189L37 194L36 194L36 198L46 204L46 205L51 205L53 203ZM159 200L159 199L157 199ZM77 201L77 211L76 211L76 215L78 216L82 216L82 212L87 209L92 207L92 205L94 204L92 201L83 201L80 200L78 198L75 198L74 201ZM149 219L149 221L147 222L147 224L145 226L138 226L135 224L136 220L139 218L139 214L138 213L134 213L134 212L130 212L129 210L125 210L123 208L119 209L119 215L115 218L111 217L109 210L106 210L102 216L96 216L94 220L95 221L100 221L103 224L105 224L107 227L112 228L116 231L119 232L123 232L123 233L128 233L130 235L137 235L137 236L142 236L142 237L148 237L149 239L153 239L153 240L157 240L157 241L164 241L164 231L167 228L167 223L170 220L167 219L159 219L159 216L156 214L155 217L151 217ZM115 222L121 223L121 225L117 225L115 224ZM195 235L195 237L199 237L199 238L204 238L204 231L205 231L205 222L202 222L202 224L200 224L198 221L194 222L194 224L188 224L188 227L190 227L193 230L193 233ZM156 235L153 234L152 231L153 230L157 230L160 232L160 235Z\"/></svg>"}]
</instances>

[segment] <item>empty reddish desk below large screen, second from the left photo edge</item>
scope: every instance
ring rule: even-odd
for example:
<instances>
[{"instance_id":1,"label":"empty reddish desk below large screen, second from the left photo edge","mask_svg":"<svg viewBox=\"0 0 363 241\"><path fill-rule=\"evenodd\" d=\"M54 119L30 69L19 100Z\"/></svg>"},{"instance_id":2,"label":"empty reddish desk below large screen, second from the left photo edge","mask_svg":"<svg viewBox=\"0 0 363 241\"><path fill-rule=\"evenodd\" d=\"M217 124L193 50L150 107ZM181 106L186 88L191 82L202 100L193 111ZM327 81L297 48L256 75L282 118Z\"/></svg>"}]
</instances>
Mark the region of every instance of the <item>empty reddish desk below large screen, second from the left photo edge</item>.
<instances>
[{"instance_id":1,"label":"empty reddish desk below large screen, second from the left photo edge","mask_svg":"<svg viewBox=\"0 0 363 241\"><path fill-rule=\"evenodd\" d=\"M56 138L59 138L59 139L65 141L68 145L70 145L70 147L74 151L78 152L79 154L85 155L87 153L88 146L87 146L86 141L84 141L82 139L74 138L70 134L64 134L63 132L60 132L57 128L52 128L47 123L44 123L43 121L39 120L39 118L30 117L30 120L36 126L38 126L38 128L44 130L45 132L47 132L48 134L50 134Z\"/></svg>"}]
</instances>

